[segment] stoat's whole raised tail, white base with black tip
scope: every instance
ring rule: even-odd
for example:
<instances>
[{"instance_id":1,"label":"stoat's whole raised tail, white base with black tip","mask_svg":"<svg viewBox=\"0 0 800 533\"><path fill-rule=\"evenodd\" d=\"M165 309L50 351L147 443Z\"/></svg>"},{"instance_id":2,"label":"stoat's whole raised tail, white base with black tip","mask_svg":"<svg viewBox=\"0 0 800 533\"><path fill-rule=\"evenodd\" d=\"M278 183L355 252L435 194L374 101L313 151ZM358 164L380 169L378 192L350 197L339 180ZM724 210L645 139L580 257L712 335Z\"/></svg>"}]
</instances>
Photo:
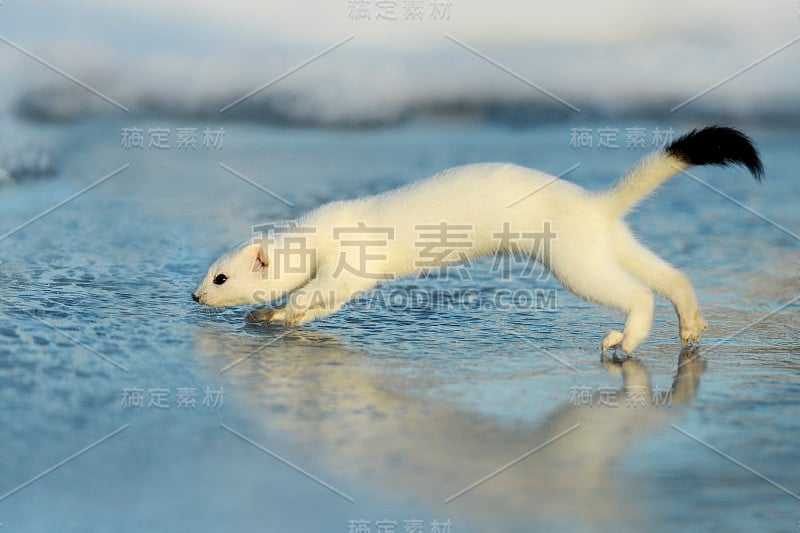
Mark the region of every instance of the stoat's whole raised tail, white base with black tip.
<instances>
[{"instance_id":1,"label":"stoat's whole raised tail, white base with black tip","mask_svg":"<svg viewBox=\"0 0 800 533\"><path fill-rule=\"evenodd\" d=\"M609 208L624 215L669 178L696 165L742 165L761 181L764 166L744 133L723 126L692 130L639 163L602 194Z\"/></svg>"}]
</instances>

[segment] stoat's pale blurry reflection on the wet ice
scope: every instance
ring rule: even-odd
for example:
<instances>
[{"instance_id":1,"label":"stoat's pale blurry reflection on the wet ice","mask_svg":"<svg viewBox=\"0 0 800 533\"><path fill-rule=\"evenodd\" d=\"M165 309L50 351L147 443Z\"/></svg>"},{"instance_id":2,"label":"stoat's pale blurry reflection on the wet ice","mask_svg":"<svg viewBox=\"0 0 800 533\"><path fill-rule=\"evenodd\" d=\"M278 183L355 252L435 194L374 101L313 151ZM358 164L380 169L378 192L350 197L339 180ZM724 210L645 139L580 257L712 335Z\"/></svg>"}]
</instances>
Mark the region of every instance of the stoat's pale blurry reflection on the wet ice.
<instances>
[{"instance_id":1,"label":"stoat's pale blurry reflection on the wet ice","mask_svg":"<svg viewBox=\"0 0 800 533\"><path fill-rule=\"evenodd\" d=\"M218 368L262 346L225 375L234 382L229 388L247 390L246 401L263 413L265 434L292 442L293 459L345 486L376 487L398 505L454 517L459 530L479 531L619 522L645 527L646 510L631 505L635 487L620 481L616 467L637 442L675 420L706 368L697 348L684 348L670 401L654 402L650 374L639 360L604 357L603 367L622 380L616 405L595 395L592 407L564 402L544 420L512 423L423 399L402 369L387 372L379 356L311 330L272 341L205 335L199 344Z\"/></svg>"}]
</instances>

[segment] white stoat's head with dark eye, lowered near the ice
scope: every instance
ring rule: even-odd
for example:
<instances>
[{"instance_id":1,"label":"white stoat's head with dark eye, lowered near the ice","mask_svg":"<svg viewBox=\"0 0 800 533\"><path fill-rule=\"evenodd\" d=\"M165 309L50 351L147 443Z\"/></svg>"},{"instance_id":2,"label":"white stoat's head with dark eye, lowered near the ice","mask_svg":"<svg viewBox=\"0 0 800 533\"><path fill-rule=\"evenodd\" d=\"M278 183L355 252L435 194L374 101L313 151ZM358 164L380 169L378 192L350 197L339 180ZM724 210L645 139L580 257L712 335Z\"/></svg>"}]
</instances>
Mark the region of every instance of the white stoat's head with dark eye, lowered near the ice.
<instances>
[{"instance_id":1,"label":"white stoat's head with dark eye, lowered near the ice","mask_svg":"<svg viewBox=\"0 0 800 533\"><path fill-rule=\"evenodd\" d=\"M192 299L214 307L264 303L268 269L261 243L240 246L214 261Z\"/></svg>"}]
</instances>

